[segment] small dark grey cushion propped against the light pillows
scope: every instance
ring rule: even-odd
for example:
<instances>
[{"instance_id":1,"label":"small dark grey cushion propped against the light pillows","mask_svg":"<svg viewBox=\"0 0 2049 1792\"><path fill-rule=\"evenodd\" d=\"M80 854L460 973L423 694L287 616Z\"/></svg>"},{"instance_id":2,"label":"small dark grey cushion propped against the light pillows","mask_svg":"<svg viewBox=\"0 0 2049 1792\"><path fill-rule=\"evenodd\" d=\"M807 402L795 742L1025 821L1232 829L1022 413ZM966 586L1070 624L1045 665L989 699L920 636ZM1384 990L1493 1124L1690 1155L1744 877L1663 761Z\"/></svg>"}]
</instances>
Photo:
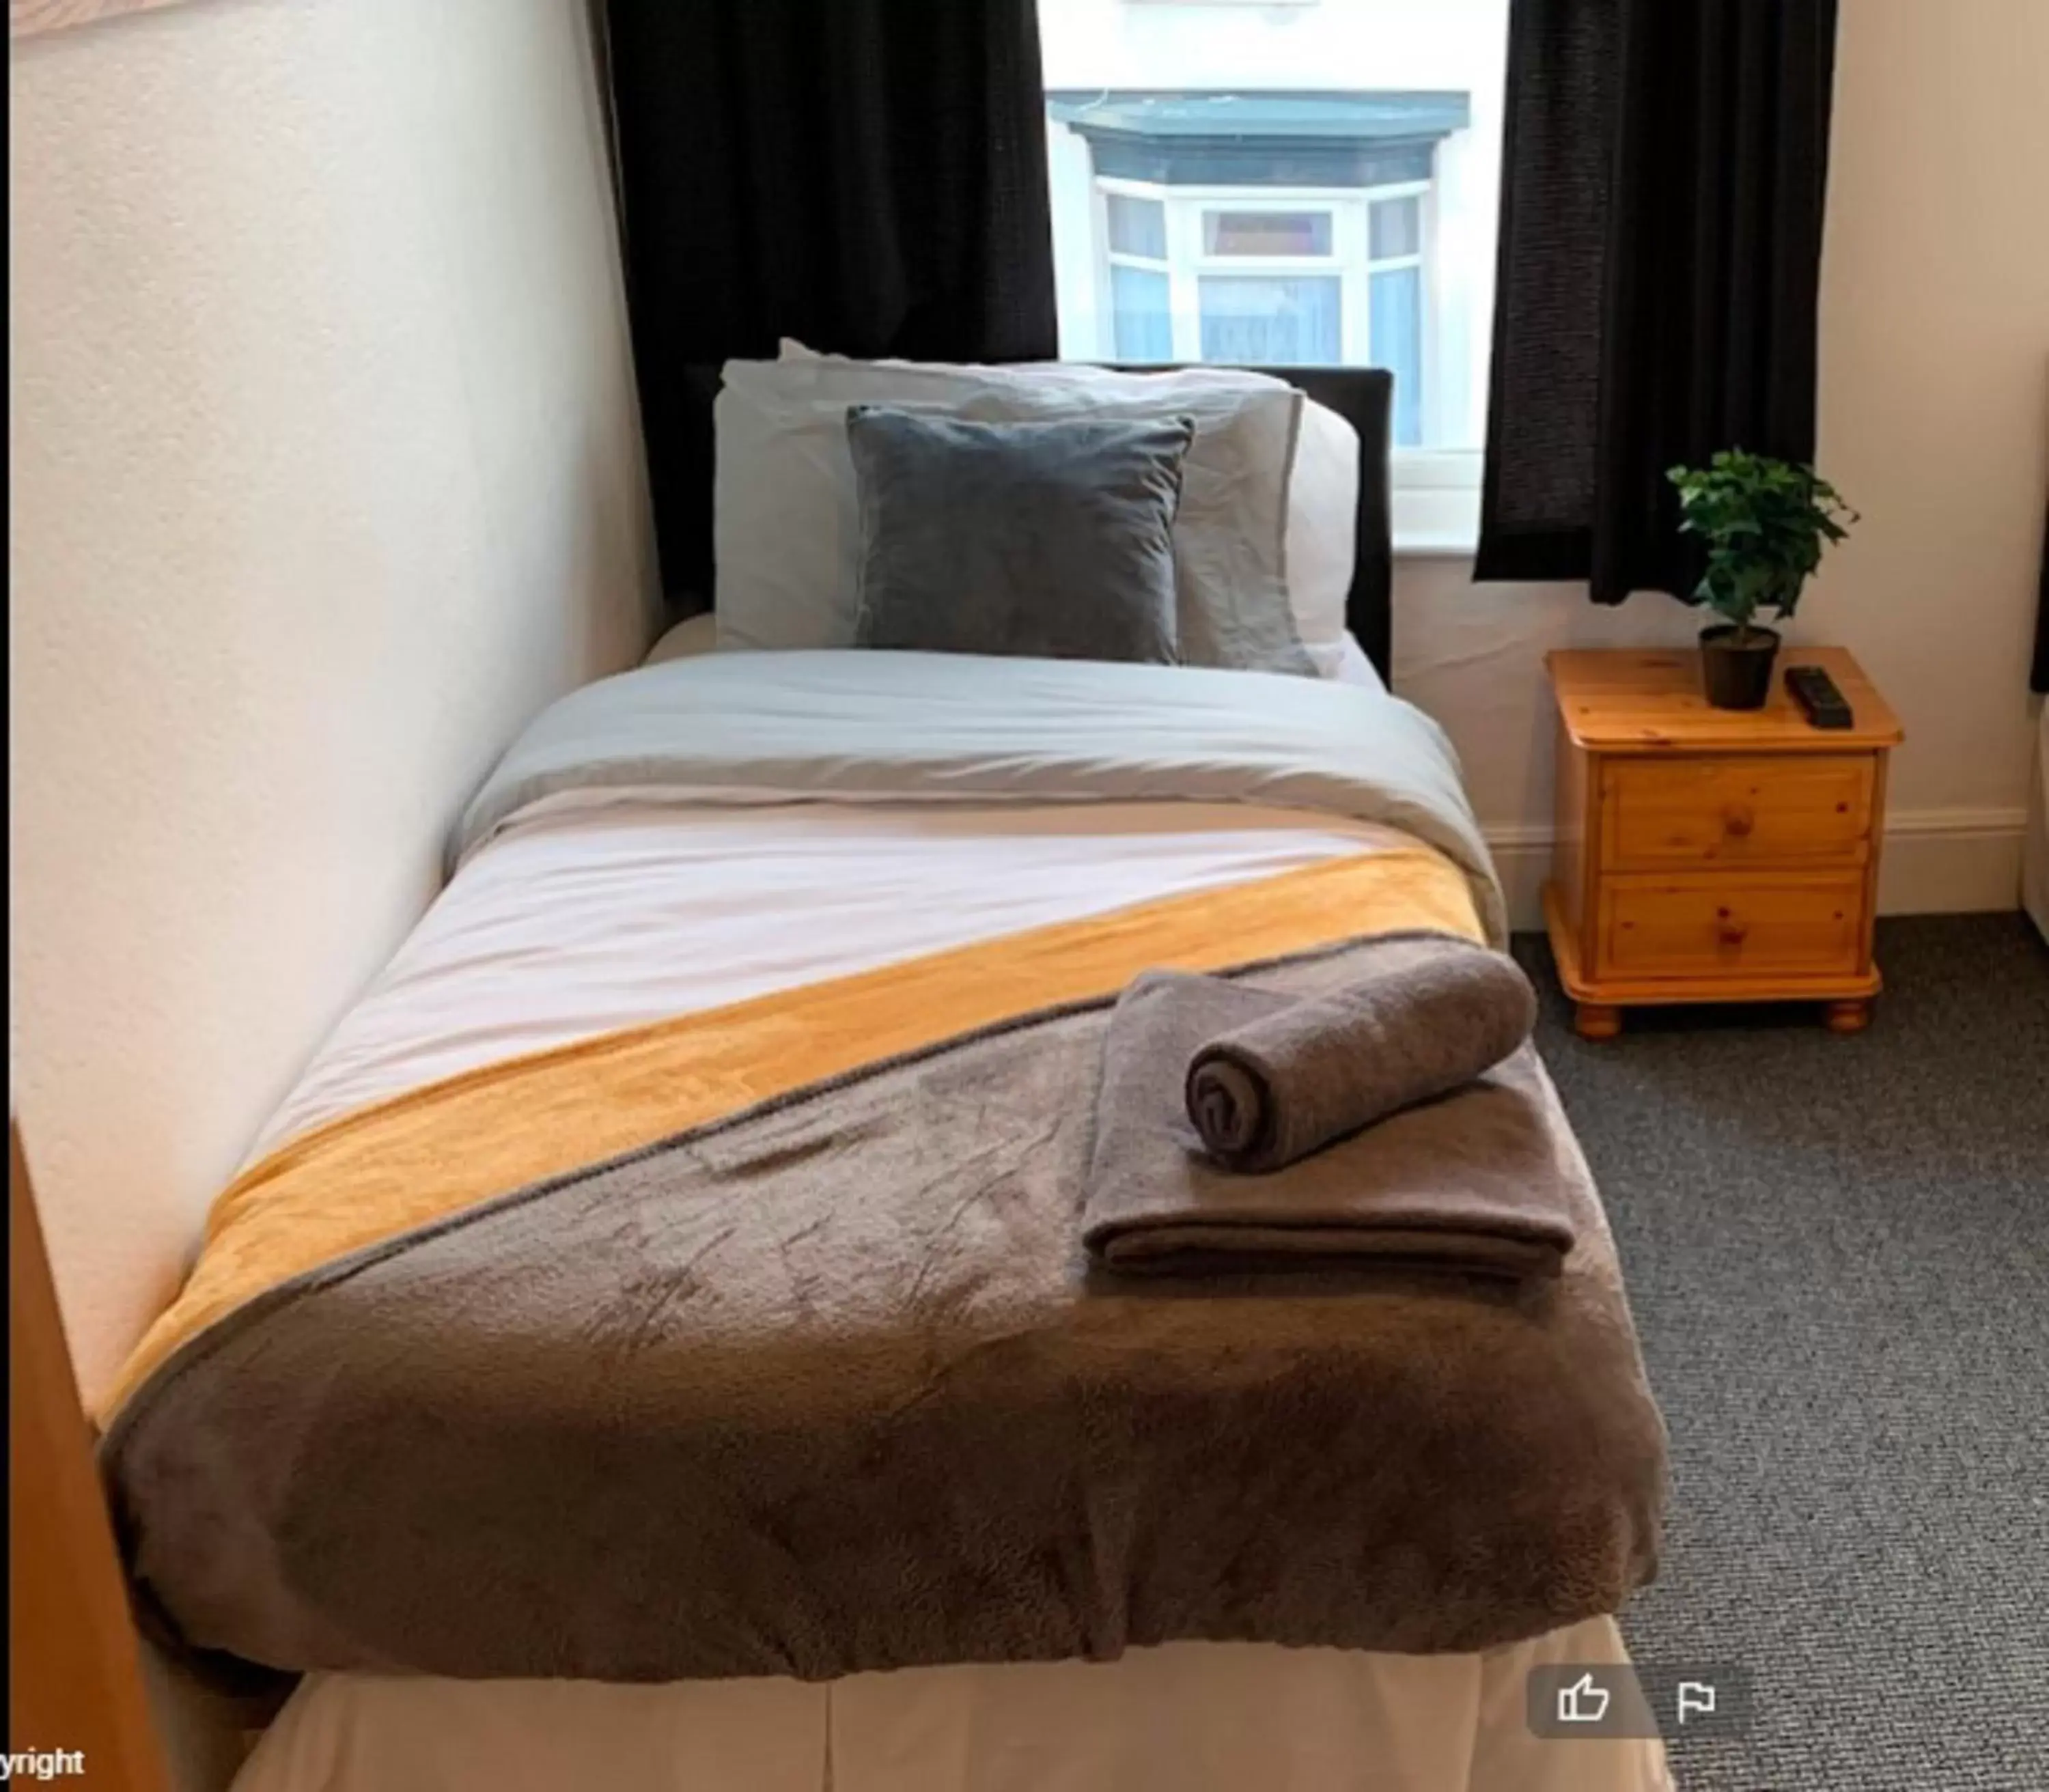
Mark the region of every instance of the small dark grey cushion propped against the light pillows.
<instances>
[{"instance_id":1,"label":"small dark grey cushion propped against the light pillows","mask_svg":"<svg viewBox=\"0 0 2049 1792\"><path fill-rule=\"evenodd\" d=\"M852 406L856 647L1178 664L1190 418L967 422Z\"/></svg>"}]
</instances>

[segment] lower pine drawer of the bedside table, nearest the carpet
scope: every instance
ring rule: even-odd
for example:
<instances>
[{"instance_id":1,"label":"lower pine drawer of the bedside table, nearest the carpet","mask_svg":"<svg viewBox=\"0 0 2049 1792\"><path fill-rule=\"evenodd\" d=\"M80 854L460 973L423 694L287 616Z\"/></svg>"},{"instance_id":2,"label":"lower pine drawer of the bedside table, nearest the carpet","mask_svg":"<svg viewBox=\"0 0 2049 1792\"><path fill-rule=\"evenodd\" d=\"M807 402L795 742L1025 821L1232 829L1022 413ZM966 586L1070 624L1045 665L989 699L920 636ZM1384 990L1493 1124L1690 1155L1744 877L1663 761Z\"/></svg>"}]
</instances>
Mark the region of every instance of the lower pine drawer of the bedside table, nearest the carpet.
<instances>
[{"instance_id":1,"label":"lower pine drawer of the bedside table, nearest the carpet","mask_svg":"<svg viewBox=\"0 0 2049 1792\"><path fill-rule=\"evenodd\" d=\"M1600 895L1608 977L1830 977L1860 969L1865 874L1615 879Z\"/></svg>"}]
</instances>

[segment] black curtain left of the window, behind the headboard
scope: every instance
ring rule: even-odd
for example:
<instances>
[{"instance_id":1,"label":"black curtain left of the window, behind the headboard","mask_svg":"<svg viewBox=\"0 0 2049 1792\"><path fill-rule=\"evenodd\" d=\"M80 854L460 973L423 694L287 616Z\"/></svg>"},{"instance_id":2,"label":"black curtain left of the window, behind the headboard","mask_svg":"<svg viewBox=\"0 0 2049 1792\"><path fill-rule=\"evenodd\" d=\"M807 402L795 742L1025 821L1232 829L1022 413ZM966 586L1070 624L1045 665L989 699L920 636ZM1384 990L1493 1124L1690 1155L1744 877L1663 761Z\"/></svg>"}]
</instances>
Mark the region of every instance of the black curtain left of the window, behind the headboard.
<instances>
[{"instance_id":1,"label":"black curtain left of the window, behind the headboard","mask_svg":"<svg viewBox=\"0 0 2049 1792\"><path fill-rule=\"evenodd\" d=\"M656 532L701 575L686 369L1057 350L1035 0L609 0L627 303ZM697 408L701 420L701 406ZM703 596L703 594L699 594Z\"/></svg>"}]
</instances>

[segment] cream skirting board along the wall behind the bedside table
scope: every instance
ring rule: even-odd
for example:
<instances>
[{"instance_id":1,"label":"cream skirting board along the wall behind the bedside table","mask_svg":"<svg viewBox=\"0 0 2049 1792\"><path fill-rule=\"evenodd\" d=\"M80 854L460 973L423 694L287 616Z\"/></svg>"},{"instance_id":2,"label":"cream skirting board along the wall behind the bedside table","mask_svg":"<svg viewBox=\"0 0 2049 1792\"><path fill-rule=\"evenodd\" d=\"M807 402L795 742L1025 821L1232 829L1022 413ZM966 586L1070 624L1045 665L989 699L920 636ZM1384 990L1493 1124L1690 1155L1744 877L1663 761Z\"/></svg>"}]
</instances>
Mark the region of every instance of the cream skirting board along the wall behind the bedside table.
<instances>
[{"instance_id":1,"label":"cream skirting board along the wall behind the bedside table","mask_svg":"<svg viewBox=\"0 0 2049 1792\"><path fill-rule=\"evenodd\" d=\"M1893 809L1879 866L1881 915L1957 915L2020 907L2024 809ZM1483 827L1508 891L1508 920L1543 926L1549 827Z\"/></svg>"}]
</instances>

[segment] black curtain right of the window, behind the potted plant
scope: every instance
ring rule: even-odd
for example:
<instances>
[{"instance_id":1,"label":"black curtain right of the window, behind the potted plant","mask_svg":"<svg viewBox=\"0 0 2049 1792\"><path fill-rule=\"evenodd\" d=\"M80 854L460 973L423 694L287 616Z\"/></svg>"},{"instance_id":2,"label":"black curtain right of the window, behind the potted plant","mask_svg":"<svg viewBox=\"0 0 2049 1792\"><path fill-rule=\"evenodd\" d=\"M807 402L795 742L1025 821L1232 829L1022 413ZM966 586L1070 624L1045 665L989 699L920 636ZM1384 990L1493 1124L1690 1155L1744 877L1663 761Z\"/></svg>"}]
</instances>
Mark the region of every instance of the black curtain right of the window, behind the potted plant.
<instances>
[{"instance_id":1,"label":"black curtain right of the window, behind the potted plant","mask_svg":"<svg viewBox=\"0 0 2049 1792\"><path fill-rule=\"evenodd\" d=\"M1836 0L1512 0L1475 573L1684 592L1666 483L1813 459Z\"/></svg>"}]
</instances>

